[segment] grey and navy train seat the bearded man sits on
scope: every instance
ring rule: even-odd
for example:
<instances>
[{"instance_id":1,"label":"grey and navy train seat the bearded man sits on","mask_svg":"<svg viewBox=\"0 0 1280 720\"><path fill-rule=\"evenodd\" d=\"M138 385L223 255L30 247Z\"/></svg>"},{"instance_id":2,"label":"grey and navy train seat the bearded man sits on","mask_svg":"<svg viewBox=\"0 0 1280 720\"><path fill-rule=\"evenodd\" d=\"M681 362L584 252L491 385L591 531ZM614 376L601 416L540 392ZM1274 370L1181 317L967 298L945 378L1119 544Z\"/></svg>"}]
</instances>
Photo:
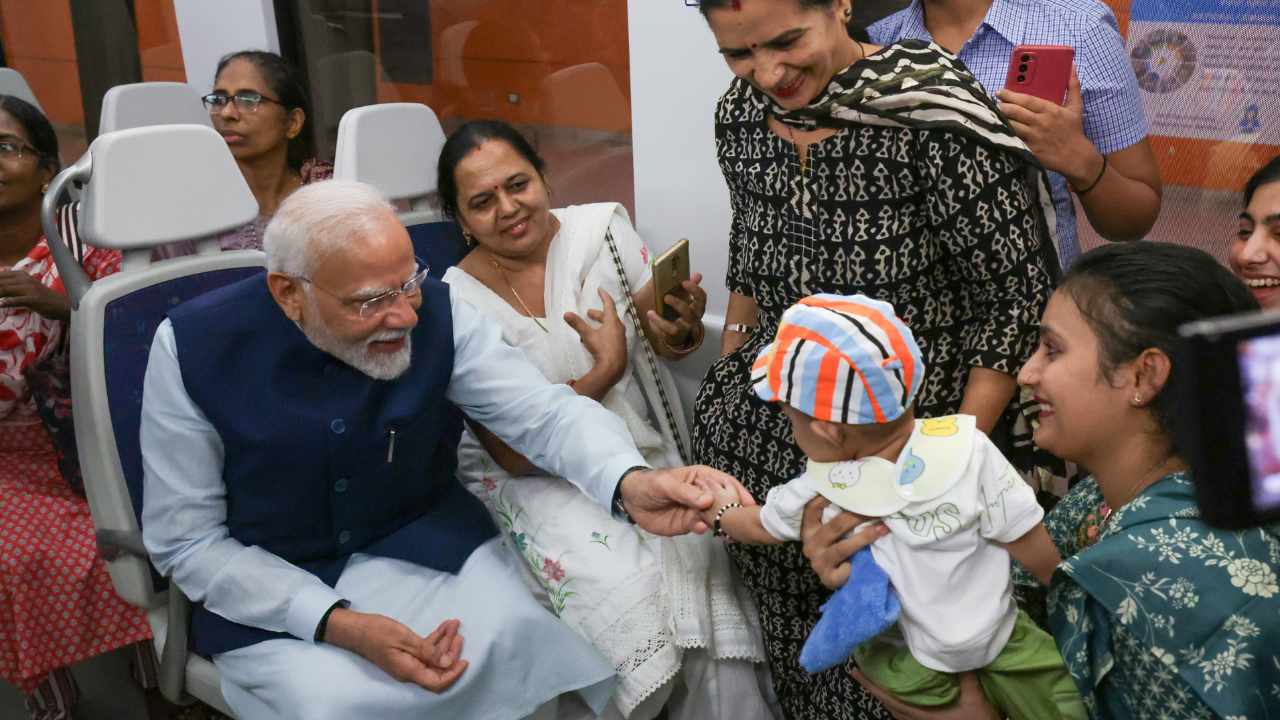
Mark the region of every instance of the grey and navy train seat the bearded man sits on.
<instances>
[{"instance_id":1,"label":"grey and navy train seat the bearded man sits on","mask_svg":"<svg viewBox=\"0 0 1280 720\"><path fill-rule=\"evenodd\" d=\"M183 158L183 163L173 163ZM88 283L70 251L50 249L73 302L72 407L90 512L111 584L127 602L148 609L161 653L161 689L183 687L228 711L212 664L186 652L186 600L155 583L141 541L142 384L151 341L175 305L265 270L257 251L218 251L216 236L257 217L257 201L223 138L209 127L172 124L99 136L88 152L54 179L44 220L49 232L56 191L83 183L78 228L90 246L124 255L118 274ZM56 234L49 237L56 238ZM151 263L151 247L195 240L197 254Z\"/></svg>"}]
</instances>

